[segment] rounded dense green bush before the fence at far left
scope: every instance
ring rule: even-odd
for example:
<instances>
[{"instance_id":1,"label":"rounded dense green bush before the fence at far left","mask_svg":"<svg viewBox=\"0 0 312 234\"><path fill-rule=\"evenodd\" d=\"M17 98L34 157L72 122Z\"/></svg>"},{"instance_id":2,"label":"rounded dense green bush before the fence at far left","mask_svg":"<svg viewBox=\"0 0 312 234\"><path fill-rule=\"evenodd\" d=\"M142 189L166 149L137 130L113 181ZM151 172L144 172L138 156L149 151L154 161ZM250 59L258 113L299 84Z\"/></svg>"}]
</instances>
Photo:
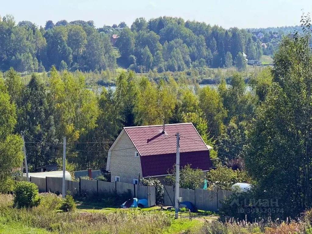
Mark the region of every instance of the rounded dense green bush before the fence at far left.
<instances>
[{"instance_id":1,"label":"rounded dense green bush before the fence at far left","mask_svg":"<svg viewBox=\"0 0 312 234\"><path fill-rule=\"evenodd\" d=\"M17 182L14 189L14 206L33 207L37 206L40 202L38 186L34 183L27 181Z\"/></svg>"}]
</instances>

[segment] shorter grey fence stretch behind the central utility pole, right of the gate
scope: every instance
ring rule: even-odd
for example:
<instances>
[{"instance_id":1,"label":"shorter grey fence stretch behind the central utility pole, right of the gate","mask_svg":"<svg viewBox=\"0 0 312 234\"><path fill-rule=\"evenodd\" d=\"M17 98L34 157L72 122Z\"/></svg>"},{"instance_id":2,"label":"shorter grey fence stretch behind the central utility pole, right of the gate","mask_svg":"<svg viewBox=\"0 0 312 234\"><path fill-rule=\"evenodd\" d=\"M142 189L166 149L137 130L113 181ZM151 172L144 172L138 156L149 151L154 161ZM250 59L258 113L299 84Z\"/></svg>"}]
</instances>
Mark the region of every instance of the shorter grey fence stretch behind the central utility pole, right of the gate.
<instances>
[{"instance_id":1,"label":"shorter grey fence stretch behind the central utility pole, right of the gate","mask_svg":"<svg viewBox=\"0 0 312 234\"><path fill-rule=\"evenodd\" d=\"M174 186L164 185L165 206L174 206L174 193ZM231 196L232 193L228 190L216 192L201 188L195 190L180 188L179 197L182 197L183 202L191 202L198 210L218 211L222 207L221 201L224 201L225 197Z\"/></svg>"}]
</instances>

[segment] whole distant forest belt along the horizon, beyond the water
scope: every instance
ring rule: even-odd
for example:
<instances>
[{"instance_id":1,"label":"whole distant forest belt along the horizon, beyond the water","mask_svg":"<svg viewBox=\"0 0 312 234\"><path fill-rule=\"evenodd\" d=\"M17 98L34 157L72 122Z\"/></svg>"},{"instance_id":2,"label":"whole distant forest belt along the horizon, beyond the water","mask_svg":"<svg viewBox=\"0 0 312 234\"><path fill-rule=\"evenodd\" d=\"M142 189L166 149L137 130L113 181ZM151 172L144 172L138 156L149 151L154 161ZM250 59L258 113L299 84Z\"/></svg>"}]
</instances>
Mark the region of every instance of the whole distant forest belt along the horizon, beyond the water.
<instances>
[{"instance_id":1,"label":"whole distant forest belt along the horizon, beyond the water","mask_svg":"<svg viewBox=\"0 0 312 234\"><path fill-rule=\"evenodd\" d=\"M118 35L115 47L110 43L113 34ZM55 24L49 20L45 27L29 21L16 24L7 15L0 17L0 70L42 72L54 65L58 70L101 71L114 69L117 63L140 73L204 66L243 68L243 52L247 59L259 60L263 53L276 50L278 41L271 42L267 34L262 40L251 30L227 30L173 17L149 21L141 17L131 27L121 22L95 28L93 21L82 20ZM268 43L266 48L262 42Z\"/></svg>"}]
</instances>

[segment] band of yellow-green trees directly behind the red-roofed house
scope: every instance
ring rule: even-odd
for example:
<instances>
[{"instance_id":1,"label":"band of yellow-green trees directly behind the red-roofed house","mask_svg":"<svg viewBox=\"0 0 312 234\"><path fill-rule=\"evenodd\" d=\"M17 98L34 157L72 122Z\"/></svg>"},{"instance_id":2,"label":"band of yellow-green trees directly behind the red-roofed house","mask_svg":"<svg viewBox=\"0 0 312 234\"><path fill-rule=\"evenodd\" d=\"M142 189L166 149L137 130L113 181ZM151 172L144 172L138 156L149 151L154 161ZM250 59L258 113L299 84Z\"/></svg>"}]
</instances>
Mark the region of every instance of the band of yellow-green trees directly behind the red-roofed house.
<instances>
[{"instance_id":1,"label":"band of yellow-green trees directly behind the red-roofed house","mask_svg":"<svg viewBox=\"0 0 312 234\"><path fill-rule=\"evenodd\" d=\"M163 116L166 123L193 122L213 145L211 137L232 134L227 128L250 119L256 105L256 96L246 92L239 73L230 82L228 87L222 80L216 90L190 85L186 79L177 82L171 76L156 83L129 71L116 78L115 91L103 89L97 95L80 72L58 72L53 67L45 82L33 74L27 85L13 68L4 73L10 102L16 107L13 132L25 132L31 171L46 164L61 165L64 136L72 143L67 145L69 170L105 168L107 150L124 126L161 124ZM221 153L228 149L220 147Z\"/></svg>"}]
</instances>

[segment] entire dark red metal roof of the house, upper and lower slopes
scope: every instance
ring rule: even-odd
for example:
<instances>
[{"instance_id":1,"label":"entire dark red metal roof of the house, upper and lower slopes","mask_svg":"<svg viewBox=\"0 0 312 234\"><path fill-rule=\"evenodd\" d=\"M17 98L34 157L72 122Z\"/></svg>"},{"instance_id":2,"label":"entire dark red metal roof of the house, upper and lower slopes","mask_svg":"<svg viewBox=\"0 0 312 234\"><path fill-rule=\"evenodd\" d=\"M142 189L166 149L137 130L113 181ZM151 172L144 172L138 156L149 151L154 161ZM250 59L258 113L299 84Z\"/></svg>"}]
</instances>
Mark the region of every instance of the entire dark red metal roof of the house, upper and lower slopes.
<instances>
[{"instance_id":1,"label":"entire dark red metal roof of the house, upper and lower slopes","mask_svg":"<svg viewBox=\"0 0 312 234\"><path fill-rule=\"evenodd\" d=\"M176 162L176 133L180 134L180 166L210 169L209 150L192 123L126 127L125 132L138 150L142 176L168 174Z\"/></svg>"}]
</instances>

